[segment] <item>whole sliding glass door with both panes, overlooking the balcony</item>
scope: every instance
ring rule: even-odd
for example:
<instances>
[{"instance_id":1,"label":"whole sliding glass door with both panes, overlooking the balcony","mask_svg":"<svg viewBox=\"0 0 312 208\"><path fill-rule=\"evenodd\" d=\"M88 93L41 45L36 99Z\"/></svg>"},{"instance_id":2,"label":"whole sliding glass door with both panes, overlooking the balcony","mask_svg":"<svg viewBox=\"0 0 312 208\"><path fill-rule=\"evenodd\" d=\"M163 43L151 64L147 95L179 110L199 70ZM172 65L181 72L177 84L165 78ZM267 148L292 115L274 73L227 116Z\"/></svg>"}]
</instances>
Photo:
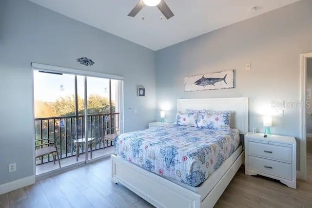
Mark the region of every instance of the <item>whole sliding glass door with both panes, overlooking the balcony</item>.
<instances>
[{"instance_id":1,"label":"whole sliding glass door with both panes, overlooking the balcony","mask_svg":"<svg viewBox=\"0 0 312 208\"><path fill-rule=\"evenodd\" d=\"M120 126L120 85L119 80L34 70L36 153L54 144L58 151L36 158L37 175L58 169L57 156L66 167L112 152L104 138Z\"/></svg>"}]
</instances>

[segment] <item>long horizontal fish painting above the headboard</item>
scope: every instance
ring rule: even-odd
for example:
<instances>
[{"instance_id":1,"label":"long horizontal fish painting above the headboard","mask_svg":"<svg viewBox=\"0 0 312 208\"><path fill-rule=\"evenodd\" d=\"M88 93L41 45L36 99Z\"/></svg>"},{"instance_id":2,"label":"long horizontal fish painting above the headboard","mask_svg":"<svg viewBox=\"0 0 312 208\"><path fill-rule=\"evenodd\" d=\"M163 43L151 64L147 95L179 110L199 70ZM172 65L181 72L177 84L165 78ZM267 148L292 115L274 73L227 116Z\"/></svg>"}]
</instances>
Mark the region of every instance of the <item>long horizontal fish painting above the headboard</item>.
<instances>
[{"instance_id":1,"label":"long horizontal fish painting above the headboard","mask_svg":"<svg viewBox=\"0 0 312 208\"><path fill-rule=\"evenodd\" d=\"M234 88L234 70L214 72L184 78L185 91Z\"/></svg>"}]
</instances>

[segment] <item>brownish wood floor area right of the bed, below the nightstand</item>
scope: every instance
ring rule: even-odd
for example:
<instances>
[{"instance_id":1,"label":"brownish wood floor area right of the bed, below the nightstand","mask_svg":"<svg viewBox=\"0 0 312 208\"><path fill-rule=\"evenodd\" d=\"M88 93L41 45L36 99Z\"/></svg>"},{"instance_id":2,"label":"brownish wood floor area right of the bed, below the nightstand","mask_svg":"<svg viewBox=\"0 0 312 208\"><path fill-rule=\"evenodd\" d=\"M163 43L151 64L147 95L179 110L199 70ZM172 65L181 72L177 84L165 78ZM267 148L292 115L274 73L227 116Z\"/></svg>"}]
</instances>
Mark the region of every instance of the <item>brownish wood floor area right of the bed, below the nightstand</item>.
<instances>
[{"instance_id":1,"label":"brownish wood floor area right of the bed, below the nightstand","mask_svg":"<svg viewBox=\"0 0 312 208\"><path fill-rule=\"evenodd\" d=\"M242 168L224 191L215 208L312 208L312 142L308 144L307 181L297 189L261 176L247 176Z\"/></svg>"}]
</instances>

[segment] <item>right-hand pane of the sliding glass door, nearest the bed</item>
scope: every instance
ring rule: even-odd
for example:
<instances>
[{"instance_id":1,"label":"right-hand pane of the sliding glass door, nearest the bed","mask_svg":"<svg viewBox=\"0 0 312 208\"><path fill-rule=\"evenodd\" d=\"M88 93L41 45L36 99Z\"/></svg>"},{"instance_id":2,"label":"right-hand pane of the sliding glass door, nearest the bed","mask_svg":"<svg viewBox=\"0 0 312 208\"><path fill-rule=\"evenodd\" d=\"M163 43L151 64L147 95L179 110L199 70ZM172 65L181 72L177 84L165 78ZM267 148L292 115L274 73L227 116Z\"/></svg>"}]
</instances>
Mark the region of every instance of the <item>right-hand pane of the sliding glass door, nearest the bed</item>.
<instances>
[{"instance_id":1,"label":"right-hand pane of the sliding glass door, nearest the bed","mask_svg":"<svg viewBox=\"0 0 312 208\"><path fill-rule=\"evenodd\" d=\"M87 77L87 109L88 109L88 138L92 143L92 149L103 149L104 154L109 153L112 142L105 139L106 135L114 133L119 129L119 93L120 81L103 79L98 77ZM100 86L100 87L99 87ZM105 135L106 134L106 135ZM91 149L89 145L89 149ZM88 159L102 156L103 152L91 150Z\"/></svg>"}]
</instances>

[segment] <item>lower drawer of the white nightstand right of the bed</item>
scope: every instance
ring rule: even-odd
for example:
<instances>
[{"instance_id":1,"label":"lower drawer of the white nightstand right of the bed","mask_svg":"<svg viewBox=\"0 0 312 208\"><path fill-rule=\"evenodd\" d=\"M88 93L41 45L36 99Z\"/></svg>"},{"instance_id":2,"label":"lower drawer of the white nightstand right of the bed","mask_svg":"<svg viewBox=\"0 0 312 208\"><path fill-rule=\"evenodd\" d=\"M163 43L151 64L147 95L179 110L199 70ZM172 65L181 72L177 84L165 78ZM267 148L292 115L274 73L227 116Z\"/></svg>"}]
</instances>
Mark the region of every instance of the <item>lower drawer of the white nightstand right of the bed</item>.
<instances>
[{"instance_id":1,"label":"lower drawer of the white nightstand right of the bed","mask_svg":"<svg viewBox=\"0 0 312 208\"><path fill-rule=\"evenodd\" d=\"M248 155L248 169L292 180L292 165Z\"/></svg>"}]
</instances>

